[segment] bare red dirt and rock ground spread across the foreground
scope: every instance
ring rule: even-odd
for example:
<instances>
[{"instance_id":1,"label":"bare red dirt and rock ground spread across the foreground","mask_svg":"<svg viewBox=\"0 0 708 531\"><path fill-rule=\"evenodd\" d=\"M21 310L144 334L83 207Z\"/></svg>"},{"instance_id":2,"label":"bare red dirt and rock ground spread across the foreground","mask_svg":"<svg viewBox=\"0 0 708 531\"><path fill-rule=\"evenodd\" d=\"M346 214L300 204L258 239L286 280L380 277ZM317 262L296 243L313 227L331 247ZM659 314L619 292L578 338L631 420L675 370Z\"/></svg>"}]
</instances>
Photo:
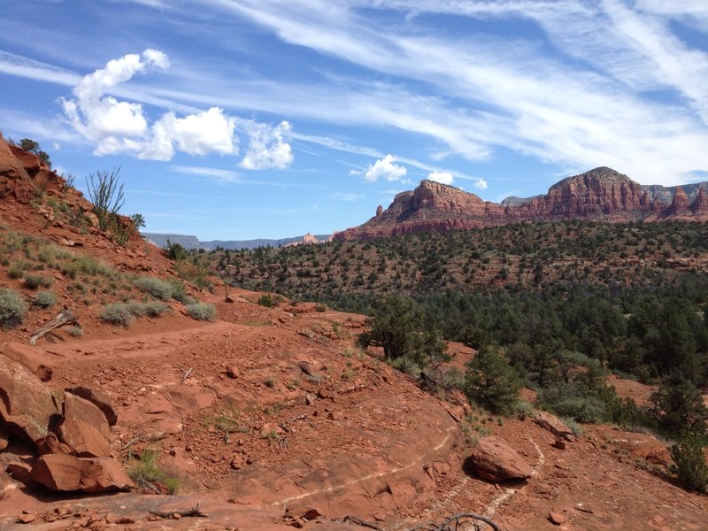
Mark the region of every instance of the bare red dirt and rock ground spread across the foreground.
<instances>
[{"instance_id":1,"label":"bare red dirt and rock ground spread across the foreground","mask_svg":"<svg viewBox=\"0 0 708 531\"><path fill-rule=\"evenodd\" d=\"M356 528L332 521L353 515L404 529L473 511L494 512L508 529L543 529L554 527L551 510L566 516L566 529L706 528L706 497L629 457L621 448L627 434L608 427L587 427L556 450L555 437L530 419L492 419L486 426L527 458L535 477L497 487L466 475L464 437L437 399L352 346L361 316L305 304L269 310L245 302L247 292L236 295L243 302L219 304L215 323L173 316L151 331L102 328L96 337L38 345L55 370L52 389L81 383L114 397L117 455L157 448L160 465L182 480L179 496L130 493L71 504L129 516L134 529L165 527L145 520L150 509L197 502L208 519L167 527L286 528L286 508L314 507L324 519L308 528ZM235 379L227 366L236 367ZM307 395L316 397L312 405ZM225 435L213 419L236 410L237 431ZM21 509L43 513L65 503L12 489L0 500L0 522L14 526ZM69 528L69 521L34 527Z\"/></svg>"}]
</instances>

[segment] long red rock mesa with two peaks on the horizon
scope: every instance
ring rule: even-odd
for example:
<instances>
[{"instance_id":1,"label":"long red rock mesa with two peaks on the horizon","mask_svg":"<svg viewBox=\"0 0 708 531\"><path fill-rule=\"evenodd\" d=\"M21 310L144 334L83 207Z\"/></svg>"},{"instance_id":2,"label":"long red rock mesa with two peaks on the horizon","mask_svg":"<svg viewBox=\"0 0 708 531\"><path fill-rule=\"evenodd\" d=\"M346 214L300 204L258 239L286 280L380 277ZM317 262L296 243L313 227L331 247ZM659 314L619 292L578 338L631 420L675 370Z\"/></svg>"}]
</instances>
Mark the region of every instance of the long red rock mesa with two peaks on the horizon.
<instances>
[{"instance_id":1,"label":"long red rock mesa with two peaks on the horizon","mask_svg":"<svg viewBox=\"0 0 708 531\"><path fill-rule=\"evenodd\" d=\"M627 221L708 221L706 182L677 187L643 186L608 167L567 177L547 194L507 197L501 204L435 181L397 194L389 208L334 239L370 240L384 236L496 227L508 223L560 219Z\"/></svg>"}]
</instances>

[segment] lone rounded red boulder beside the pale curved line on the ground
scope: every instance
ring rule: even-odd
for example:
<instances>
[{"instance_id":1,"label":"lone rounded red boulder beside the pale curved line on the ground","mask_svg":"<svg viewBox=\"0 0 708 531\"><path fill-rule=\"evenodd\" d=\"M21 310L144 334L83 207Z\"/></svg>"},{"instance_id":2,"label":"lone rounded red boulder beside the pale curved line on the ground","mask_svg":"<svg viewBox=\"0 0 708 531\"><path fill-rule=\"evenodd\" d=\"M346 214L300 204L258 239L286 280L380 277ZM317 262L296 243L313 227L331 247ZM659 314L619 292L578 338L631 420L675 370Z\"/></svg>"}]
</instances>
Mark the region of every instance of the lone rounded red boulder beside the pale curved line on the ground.
<instances>
[{"instance_id":1,"label":"lone rounded red boulder beside the pale curved line on the ground","mask_svg":"<svg viewBox=\"0 0 708 531\"><path fill-rule=\"evenodd\" d=\"M471 468L482 479L495 482L526 479L533 473L519 452L496 435L484 437L477 443L466 459L465 467Z\"/></svg>"}]
</instances>

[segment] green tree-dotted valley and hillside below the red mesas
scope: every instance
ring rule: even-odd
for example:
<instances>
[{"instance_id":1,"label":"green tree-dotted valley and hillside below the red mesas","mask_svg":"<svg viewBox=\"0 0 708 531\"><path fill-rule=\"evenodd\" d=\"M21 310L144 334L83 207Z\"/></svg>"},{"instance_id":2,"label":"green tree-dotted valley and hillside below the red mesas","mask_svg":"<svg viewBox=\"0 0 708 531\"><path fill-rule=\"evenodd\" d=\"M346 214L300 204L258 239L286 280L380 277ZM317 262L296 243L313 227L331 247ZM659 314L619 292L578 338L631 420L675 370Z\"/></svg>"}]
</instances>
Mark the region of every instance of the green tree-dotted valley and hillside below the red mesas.
<instances>
[{"instance_id":1,"label":"green tree-dotted valley and hillside below the red mesas","mask_svg":"<svg viewBox=\"0 0 708 531\"><path fill-rule=\"evenodd\" d=\"M569 421L648 427L676 442L687 485L708 484L704 460L696 465L708 419L705 224L573 220L178 251L187 263L208 257L225 284L369 315L363 346L381 346L396 368L433 374L490 411L523 410L523 385ZM466 373L441 372L442 340L478 351ZM651 406L621 400L606 384L611 371L656 385Z\"/></svg>"}]
</instances>

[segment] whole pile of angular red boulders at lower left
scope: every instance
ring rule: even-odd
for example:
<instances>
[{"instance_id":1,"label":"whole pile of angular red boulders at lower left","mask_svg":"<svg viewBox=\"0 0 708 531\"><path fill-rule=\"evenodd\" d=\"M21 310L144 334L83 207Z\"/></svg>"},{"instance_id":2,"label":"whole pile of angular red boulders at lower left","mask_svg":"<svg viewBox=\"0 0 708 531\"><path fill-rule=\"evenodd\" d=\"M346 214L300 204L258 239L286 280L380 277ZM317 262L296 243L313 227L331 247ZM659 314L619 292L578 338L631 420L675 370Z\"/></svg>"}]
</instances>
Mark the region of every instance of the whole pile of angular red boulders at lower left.
<instances>
[{"instance_id":1,"label":"whole pile of angular red boulders at lower left","mask_svg":"<svg viewBox=\"0 0 708 531\"><path fill-rule=\"evenodd\" d=\"M3 352L19 352L16 357L33 366L32 350L22 346L4 343ZM27 366L0 356L0 452L7 450L12 436L34 445L34 455L23 458L27 462L6 466L13 479L30 488L39 484L59 491L102 493L132 487L112 458L109 420L116 422L110 396L84 387L66 389L59 413L49 389Z\"/></svg>"}]
</instances>

